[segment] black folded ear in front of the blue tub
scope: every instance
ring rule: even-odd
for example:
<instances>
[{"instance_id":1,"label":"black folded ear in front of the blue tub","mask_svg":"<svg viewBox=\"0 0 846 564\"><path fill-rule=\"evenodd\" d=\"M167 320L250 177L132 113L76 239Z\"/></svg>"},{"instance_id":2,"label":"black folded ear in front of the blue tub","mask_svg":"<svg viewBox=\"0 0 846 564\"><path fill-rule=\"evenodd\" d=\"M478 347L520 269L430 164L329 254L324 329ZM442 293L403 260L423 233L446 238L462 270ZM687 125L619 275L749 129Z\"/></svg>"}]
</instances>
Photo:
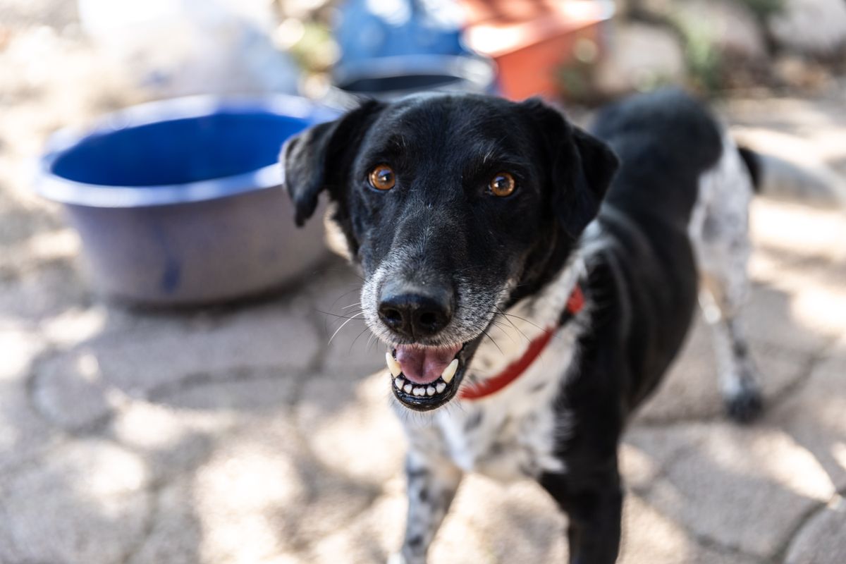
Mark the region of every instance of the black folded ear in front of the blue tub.
<instances>
[{"instance_id":1,"label":"black folded ear in front of the blue tub","mask_svg":"<svg viewBox=\"0 0 846 564\"><path fill-rule=\"evenodd\" d=\"M291 137L282 147L282 185L294 202L294 221L302 226L317 208L323 189L338 187L354 151L383 107L367 101L333 122L320 123ZM331 194L333 199L338 194Z\"/></svg>"}]
</instances>

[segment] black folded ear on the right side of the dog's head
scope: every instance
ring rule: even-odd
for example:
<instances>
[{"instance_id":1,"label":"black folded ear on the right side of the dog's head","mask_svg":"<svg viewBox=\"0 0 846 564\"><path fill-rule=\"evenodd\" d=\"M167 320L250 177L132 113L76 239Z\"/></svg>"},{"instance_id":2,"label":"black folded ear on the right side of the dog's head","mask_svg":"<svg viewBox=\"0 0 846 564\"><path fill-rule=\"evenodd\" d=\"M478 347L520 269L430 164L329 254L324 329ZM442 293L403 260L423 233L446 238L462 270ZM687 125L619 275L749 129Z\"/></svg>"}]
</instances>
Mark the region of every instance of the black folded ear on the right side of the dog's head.
<instances>
[{"instance_id":1,"label":"black folded ear on the right side of the dog's head","mask_svg":"<svg viewBox=\"0 0 846 564\"><path fill-rule=\"evenodd\" d=\"M522 103L541 134L552 169L552 207L570 237L596 217L619 160L611 148L571 125L561 112L533 98Z\"/></svg>"}]
</instances>

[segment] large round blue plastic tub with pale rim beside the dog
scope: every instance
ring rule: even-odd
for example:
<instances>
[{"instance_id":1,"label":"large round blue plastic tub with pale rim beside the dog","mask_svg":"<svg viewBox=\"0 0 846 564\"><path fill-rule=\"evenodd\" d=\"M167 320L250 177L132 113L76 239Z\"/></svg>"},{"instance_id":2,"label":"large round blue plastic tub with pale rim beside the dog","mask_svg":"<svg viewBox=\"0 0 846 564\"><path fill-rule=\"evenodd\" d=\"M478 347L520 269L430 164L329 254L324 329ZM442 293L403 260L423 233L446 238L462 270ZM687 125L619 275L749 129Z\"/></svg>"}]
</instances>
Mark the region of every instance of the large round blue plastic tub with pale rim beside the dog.
<instances>
[{"instance_id":1,"label":"large round blue plastic tub with pale rim beside the dog","mask_svg":"<svg viewBox=\"0 0 846 564\"><path fill-rule=\"evenodd\" d=\"M319 220L294 227L277 156L335 117L293 96L153 102L54 135L36 187L65 205L102 291L160 305L240 298L324 255Z\"/></svg>"}]
</instances>

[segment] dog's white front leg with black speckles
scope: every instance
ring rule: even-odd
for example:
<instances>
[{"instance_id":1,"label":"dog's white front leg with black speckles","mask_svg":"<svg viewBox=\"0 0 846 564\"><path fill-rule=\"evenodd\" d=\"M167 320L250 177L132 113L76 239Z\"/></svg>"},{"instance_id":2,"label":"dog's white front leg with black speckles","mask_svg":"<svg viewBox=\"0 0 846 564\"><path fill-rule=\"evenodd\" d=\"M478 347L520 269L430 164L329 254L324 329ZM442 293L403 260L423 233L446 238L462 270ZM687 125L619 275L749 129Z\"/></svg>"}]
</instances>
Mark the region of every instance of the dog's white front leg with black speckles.
<instances>
[{"instance_id":1,"label":"dog's white front leg with black speckles","mask_svg":"<svg viewBox=\"0 0 846 564\"><path fill-rule=\"evenodd\" d=\"M437 529L446 516L462 472L442 454L412 450L405 461L409 512L400 554L390 564L423 564Z\"/></svg>"}]
</instances>

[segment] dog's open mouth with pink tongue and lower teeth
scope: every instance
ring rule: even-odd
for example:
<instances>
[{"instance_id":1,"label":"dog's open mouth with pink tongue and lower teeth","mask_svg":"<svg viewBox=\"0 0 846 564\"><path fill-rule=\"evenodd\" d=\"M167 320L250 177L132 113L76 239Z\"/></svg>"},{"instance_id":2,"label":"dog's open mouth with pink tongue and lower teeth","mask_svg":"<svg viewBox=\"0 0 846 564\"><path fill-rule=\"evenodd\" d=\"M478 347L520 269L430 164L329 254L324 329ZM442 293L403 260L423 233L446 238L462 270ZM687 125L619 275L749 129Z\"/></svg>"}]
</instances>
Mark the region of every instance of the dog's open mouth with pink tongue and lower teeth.
<instances>
[{"instance_id":1,"label":"dog's open mouth with pink tongue and lower teeth","mask_svg":"<svg viewBox=\"0 0 846 564\"><path fill-rule=\"evenodd\" d=\"M439 408L459 389L466 362L464 345L431 348L399 345L385 353L393 395L417 411Z\"/></svg>"}]
</instances>

